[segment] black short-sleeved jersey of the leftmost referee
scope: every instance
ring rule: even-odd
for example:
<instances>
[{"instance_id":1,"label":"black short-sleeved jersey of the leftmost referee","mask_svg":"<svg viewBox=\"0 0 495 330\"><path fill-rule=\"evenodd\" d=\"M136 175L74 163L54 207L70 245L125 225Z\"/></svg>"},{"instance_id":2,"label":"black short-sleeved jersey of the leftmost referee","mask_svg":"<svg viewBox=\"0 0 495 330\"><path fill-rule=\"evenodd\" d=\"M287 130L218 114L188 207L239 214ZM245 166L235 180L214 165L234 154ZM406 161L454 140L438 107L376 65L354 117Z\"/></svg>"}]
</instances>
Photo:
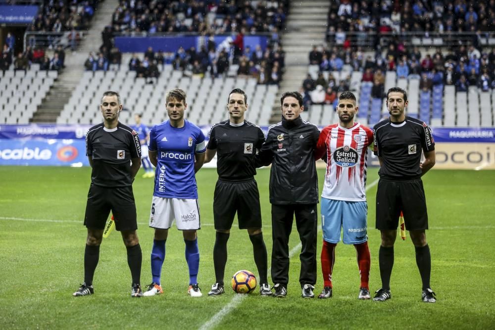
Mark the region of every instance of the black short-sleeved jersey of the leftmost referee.
<instances>
[{"instance_id":1,"label":"black short-sleeved jersey of the leftmost referee","mask_svg":"<svg viewBox=\"0 0 495 330\"><path fill-rule=\"evenodd\" d=\"M93 126L86 134L86 156L93 158L92 184L132 186L131 159L141 158L138 133L120 122L111 130L103 123Z\"/></svg>"}]
</instances>

